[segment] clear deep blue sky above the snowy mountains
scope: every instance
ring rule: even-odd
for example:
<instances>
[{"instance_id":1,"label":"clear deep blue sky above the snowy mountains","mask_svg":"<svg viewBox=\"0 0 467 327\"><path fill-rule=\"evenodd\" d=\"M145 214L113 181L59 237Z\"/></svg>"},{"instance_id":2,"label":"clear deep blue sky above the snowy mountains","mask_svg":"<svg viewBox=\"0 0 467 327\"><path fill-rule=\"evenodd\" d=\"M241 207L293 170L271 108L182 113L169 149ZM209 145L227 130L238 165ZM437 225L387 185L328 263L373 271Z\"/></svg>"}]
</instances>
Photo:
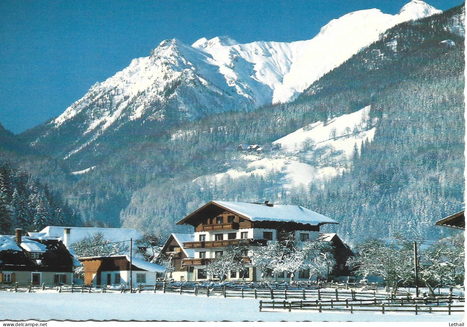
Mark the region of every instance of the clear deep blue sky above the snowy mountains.
<instances>
[{"instance_id":1,"label":"clear deep blue sky above the snowy mountains","mask_svg":"<svg viewBox=\"0 0 467 327\"><path fill-rule=\"evenodd\" d=\"M0 123L14 133L60 115L97 81L170 38L191 44L308 40L355 10L396 14L408 0L3 0ZM446 10L461 0L428 0Z\"/></svg>"}]
</instances>

